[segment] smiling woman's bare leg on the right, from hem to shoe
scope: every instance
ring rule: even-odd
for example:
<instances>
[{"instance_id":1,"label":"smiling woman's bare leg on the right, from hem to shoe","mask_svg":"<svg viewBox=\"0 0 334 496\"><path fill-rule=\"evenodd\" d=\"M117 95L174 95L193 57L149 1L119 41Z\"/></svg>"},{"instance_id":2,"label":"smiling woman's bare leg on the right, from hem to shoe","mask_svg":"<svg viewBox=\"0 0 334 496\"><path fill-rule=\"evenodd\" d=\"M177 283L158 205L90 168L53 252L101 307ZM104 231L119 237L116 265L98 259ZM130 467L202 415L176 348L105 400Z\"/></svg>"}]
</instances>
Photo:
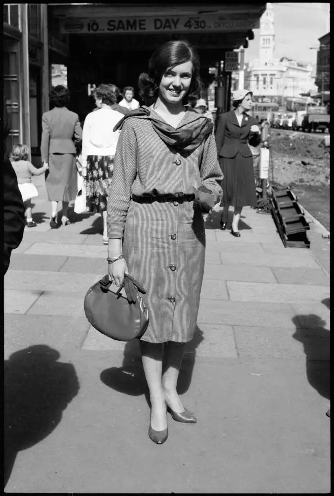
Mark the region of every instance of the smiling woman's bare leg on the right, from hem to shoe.
<instances>
[{"instance_id":1,"label":"smiling woman's bare leg on the right, from hem to shoe","mask_svg":"<svg viewBox=\"0 0 334 496\"><path fill-rule=\"evenodd\" d=\"M186 343L176 343L175 341L168 341L164 348L162 386L168 406L177 413L185 410L176 392L185 348Z\"/></svg>"}]
</instances>

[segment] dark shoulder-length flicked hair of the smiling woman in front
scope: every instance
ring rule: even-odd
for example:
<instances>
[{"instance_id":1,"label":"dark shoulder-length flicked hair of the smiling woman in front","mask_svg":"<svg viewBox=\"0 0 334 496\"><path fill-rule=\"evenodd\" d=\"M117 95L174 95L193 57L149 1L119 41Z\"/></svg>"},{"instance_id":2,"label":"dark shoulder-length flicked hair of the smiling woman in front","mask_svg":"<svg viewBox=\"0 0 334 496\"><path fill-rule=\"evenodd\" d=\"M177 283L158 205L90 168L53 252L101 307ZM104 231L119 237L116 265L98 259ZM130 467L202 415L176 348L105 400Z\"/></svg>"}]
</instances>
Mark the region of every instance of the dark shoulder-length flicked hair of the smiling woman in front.
<instances>
[{"instance_id":1,"label":"dark shoulder-length flicked hair of the smiling woman in front","mask_svg":"<svg viewBox=\"0 0 334 496\"><path fill-rule=\"evenodd\" d=\"M188 94L185 95L183 103L188 97L200 97L202 82L200 79L200 60L198 53L185 40L167 41L158 47L148 62L148 73L143 72L139 76L139 95L145 105L150 106L158 97L159 85L166 70L185 62L192 62L193 73Z\"/></svg>"}]
</instances>

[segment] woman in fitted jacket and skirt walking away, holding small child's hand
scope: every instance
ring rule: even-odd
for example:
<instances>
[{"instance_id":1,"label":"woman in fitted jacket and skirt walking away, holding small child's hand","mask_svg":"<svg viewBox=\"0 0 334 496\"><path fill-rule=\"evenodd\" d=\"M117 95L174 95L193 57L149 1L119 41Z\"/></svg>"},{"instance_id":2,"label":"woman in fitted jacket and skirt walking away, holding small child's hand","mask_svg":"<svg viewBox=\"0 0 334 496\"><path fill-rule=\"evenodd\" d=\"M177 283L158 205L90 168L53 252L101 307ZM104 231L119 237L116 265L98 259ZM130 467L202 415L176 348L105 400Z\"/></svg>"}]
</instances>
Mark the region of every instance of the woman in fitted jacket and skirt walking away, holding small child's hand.
<instances>
[{"instance_id":1,"label":"woman in fitted jacket and skirt walking away, holding small child's hand","mask_svg":"<svg viewBox=\"0 0 334 496\"><path fill-rule=\"evenodd\" d=\"M49 165L45 186L51 201L50 227L57 228L59 201L62 225L70 224L68 204L77 194L76 146L81 144L82 129L79 116L67 109L70 100L67 88L53 87L49 98L54 108L42 116L41 159Z\"/></svg>"}]
</instances>

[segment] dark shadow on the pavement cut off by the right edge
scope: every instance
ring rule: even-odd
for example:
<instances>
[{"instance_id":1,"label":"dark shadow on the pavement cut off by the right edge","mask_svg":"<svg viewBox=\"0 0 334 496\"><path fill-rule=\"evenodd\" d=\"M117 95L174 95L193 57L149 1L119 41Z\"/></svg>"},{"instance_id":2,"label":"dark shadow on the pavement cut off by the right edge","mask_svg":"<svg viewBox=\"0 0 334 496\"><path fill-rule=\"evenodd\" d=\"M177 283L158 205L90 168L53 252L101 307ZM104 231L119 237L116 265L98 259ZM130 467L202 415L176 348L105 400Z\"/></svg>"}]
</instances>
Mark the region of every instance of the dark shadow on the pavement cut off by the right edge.
<instances>
[{"instance_id":1,"label":"dark shadow on the pavement cut off by the right edge","mask_svg":"<svg viewBox=\"0 0 334 496\"><path fill-rule=\"evenodd\" d=\"M330 299L322 300L329 308ZM300 341L306 357L306 376L310 385L326 399L330 399L330 330L325 322L314 314L296 315L293 338ZM300 328L299 323L303 326Z\"/></svg>"}]
</instances>

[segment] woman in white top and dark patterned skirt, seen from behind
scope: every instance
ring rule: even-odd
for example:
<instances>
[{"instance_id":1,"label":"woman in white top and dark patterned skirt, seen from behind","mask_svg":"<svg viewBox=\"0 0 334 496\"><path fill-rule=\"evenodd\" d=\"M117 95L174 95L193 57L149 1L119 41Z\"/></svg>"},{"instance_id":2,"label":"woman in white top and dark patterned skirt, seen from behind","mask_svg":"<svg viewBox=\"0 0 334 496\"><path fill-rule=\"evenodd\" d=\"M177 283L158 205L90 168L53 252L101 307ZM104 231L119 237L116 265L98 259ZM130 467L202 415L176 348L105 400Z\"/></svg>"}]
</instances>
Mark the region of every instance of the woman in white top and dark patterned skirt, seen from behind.
<instances>
[{"instance_id":1,"label":"woman in white top and dark patterned skirt, seen from behind","mask_svg":"<svg viewBox=\"0 0 334 496\"><path fill-rule=\"evenodd\" d=\"M114 84L100 84L95 97L100 108L87 115L82 133L82 174L86 177L89 212L100 212L103 218L103 243L108 244L107 201L114 170L114 156L120 131L114 126L124 117L111 107L119 90Z\"/></svg>"}]
</instances>

